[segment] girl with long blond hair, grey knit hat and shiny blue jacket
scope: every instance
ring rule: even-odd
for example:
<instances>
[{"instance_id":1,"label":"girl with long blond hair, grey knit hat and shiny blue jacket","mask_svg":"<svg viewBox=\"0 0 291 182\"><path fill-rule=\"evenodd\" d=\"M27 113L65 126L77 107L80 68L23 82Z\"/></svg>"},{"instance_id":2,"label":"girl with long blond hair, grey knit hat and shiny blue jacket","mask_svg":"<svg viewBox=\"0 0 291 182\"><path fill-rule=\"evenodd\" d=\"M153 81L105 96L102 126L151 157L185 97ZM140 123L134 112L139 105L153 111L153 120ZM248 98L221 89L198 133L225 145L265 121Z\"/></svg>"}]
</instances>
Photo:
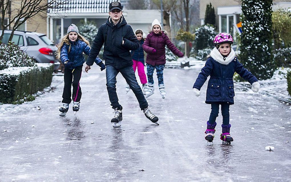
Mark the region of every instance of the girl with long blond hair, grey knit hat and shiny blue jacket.
<instances>
[{"instance_id":1,"label":"girl with long blond hair, grey knit hat and shiny blue jacket","mask_svg":"<svg viewBox=\"0 0 291 182\"><path fill-rule=\"evenodd\" d=\"M81 100L80 78L82 67L85 62L83 52L90 54L90 46L88 40L79 35L78 27L71 24L68 28L67 35L65 35L56 52L57 57L65 65L64 72L64 90L63 90L63 106L59 109L60 116L64 116L68 112L69 104L73 100L73 111L79 111ZM95 59L95 63L101 67L101 71L105 69L100 57ZM73 85L73 94L71 99L71 86Z\"/></svg>"}]
</instances>

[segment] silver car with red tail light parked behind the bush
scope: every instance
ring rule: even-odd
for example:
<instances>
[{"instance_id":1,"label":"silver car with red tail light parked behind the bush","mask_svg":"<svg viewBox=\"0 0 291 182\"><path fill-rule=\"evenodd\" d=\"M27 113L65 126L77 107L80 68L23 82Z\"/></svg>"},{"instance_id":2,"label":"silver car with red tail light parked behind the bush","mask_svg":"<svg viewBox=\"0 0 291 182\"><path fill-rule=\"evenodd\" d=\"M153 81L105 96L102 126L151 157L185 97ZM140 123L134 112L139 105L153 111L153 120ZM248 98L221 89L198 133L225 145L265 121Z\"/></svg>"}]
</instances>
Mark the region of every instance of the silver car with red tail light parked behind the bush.
<instances>
[{"instance_id":1,"label":"silver car with red tail light parked behind the bush","mask_svg":"<svg viewBox=\"0 0 291 182\"><path fill-rule=\"evenodd\" d=\"M2 31L1 31L2 32ZM2 43L7 44L11 30L5 30ZM60 62L56 59L55 52L58 49L43 33L14 31L12 42L31 56L37 63L53 63L54 71L57 71Z\"/></svg>"}]
</instances>

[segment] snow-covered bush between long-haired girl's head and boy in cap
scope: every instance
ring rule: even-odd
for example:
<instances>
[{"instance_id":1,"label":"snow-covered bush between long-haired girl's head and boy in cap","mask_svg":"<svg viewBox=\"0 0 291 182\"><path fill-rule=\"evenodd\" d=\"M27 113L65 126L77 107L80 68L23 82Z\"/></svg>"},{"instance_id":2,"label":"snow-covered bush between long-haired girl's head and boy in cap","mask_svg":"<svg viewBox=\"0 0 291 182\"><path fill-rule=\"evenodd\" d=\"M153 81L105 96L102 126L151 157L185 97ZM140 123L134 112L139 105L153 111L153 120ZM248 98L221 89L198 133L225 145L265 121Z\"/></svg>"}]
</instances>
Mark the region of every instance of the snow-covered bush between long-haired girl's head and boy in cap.
<instances>
[{"instance_id":1,"label":"snow-covered bush between long-haired girl's head and boy in cap","mask_svg":"<svg viewBox=\"0 0 291 182\"><path fill-rule=\"evenodd\" d=\"M86 38L92 46L93 40L96 37L98 28L93 23L83 24L79 27L79 33Z\"/></svg>"}]
</instances>

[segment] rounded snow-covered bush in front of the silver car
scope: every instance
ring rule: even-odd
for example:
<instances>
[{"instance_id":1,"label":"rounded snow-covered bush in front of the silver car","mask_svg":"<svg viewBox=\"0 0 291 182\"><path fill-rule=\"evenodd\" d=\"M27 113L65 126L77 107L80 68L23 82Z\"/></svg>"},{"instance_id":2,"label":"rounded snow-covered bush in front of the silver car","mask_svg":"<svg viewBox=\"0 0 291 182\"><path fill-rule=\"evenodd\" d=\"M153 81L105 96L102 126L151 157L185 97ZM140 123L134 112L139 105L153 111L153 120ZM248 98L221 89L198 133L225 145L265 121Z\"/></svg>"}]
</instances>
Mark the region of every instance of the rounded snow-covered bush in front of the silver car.
<instances>
[{"instance_id":1,"label":"rounded snow-covered bush in front of the silver car","mask_svg":"<svg viewBox=\"0 0 291 182\"><path fill-rule=\"evenodd\" d=\"M10 67L36 66L36 63L17 45L0 44L0 70Z\"/></svg>"}]
</instances>

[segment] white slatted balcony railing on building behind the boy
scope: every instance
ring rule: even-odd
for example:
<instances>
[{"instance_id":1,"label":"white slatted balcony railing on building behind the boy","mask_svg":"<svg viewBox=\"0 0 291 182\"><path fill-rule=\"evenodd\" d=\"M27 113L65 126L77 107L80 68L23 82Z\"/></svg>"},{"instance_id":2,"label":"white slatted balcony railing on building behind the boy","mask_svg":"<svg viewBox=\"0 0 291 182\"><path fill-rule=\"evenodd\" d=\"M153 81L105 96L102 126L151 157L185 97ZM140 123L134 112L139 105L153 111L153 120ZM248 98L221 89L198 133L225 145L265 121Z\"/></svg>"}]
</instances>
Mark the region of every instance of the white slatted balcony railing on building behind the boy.
<instances>
[{"instance_id":1,"label":"white slatted balcony railing on building behind the boy","mask_svg":"<svg viewBox=\"0 0 291 182\"><path fill-rule=\"evenodd\" d=\"M51 0L55 1L55 0ZM55 8L49 8L48 13L107 13L109 3L120 0L62 0ZM59 1L58 1L59 2Z\"/></svg>"}]
</instances>

